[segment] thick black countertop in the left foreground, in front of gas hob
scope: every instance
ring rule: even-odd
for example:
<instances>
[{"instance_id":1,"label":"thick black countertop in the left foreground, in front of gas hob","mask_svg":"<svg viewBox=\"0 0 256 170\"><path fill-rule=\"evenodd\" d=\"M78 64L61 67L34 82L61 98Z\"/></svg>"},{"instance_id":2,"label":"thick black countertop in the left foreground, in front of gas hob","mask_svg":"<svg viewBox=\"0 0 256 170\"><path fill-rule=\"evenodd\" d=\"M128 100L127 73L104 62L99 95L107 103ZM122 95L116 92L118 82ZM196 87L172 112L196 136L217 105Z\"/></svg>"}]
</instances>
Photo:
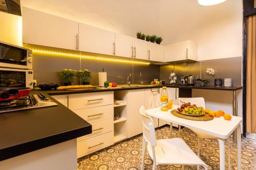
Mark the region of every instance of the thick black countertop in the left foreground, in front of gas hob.
<instances>
[{"instance_id":1,"label":"thick black countertop in the left foreground, in front of gas hob","mask_svg":"<svg viewBox=\"0 0 256 170\"><path fill-rule=\"evenodd\" d=\"M54 101L58 106L0 114L0 161L92 133L91 124Z\"/></svg>"}]
</instances>

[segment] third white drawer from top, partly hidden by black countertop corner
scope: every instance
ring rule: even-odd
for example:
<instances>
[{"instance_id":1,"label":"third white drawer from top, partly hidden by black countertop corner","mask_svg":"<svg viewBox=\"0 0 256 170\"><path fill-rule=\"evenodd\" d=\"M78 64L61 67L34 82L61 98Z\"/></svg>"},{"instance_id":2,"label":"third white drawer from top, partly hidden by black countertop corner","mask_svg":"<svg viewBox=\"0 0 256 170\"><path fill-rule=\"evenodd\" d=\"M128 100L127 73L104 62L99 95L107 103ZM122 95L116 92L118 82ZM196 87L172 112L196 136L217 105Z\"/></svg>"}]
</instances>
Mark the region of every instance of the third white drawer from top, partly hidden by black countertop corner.
<instances>
[{"instance_id":1,"label":"third white drawer from top, partly hidden by black countertop corner","mask_svg":"<svg viewBox=\"0 0 256 170\"><path fill-rule=\"evenodd\" d=\"M114 131L113 118L108 118L105 120L93 122L91 123L91 125L92 125L92 133L85 136L78 137L77 141L81 141L84 139L88 139L90 137L101 135L103 133Z\"/></svg>"}]
</instances>

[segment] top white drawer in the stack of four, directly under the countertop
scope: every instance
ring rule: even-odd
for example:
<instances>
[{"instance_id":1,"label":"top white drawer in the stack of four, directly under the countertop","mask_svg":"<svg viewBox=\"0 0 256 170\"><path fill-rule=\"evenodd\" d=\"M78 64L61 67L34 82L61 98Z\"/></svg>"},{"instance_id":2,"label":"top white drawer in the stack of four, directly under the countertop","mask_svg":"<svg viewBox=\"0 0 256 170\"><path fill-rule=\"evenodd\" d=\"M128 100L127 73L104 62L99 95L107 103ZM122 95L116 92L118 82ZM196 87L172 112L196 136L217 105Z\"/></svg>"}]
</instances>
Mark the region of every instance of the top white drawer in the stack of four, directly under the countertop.
<instances>
[{"instance_id":1,"label":"top white drawer in the stack of four, directly under the countertop","mask_svg":"<svg viewBox=\"0 0 256 170\"><path fill-rule=\"evenodd\" d=\"M114 104L113 91L71 94L70 98L71 110Z\"/></svg>"}]
</instances>

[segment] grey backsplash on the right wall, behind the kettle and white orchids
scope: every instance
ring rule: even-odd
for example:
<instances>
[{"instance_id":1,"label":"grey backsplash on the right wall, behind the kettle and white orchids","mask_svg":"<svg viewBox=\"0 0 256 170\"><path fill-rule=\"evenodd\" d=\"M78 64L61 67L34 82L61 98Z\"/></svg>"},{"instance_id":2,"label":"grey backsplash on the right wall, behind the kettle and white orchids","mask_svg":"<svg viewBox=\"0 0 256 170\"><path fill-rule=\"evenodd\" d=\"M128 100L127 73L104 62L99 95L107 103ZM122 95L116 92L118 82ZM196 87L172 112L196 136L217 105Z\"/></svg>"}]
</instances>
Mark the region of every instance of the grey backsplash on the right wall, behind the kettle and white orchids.
<instances>
[{"instance_id":1,"label":"grey backsplash on the right wall, behind the kettle and white orchids","mask_svg":"<svg viewBox=\"0 0 256 170\"><path fill-rule=\"evenodd\" d=\"M233 86L241 85L242 57L163 65L160 67L160 80L165 80L169 83L169 74L174 69L177 75L177 84L180 84L181 79L185 76L194 75L196 77L200 77L200 72L203 71L204 74L208 67L215 69L215 78L230 78L233 81ZM215 78L204 74L204 79L209 80L207 85L214 85Z\"/></svg>"}]
</instances>

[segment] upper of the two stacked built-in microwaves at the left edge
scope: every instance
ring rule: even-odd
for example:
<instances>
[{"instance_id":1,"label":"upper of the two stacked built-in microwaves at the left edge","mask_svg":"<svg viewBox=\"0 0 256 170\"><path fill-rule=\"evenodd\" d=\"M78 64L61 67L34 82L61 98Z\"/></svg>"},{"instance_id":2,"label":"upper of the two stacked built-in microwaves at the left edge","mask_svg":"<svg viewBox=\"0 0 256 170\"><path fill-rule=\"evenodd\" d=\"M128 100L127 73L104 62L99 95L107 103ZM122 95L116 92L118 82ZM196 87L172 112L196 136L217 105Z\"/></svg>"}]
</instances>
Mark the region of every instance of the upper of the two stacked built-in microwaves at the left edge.
<instances>
[{"instance_id":1,"label":"upper of the two stacked built-in microwaves at the left edge","mask_svg":"<svg viewBox=\"0 0 256 170\"><path fill-rule=\"evenodd\" d=\"M32 69L32 51L0 41L0 67Z\"/></svg>"}]
</instances>

